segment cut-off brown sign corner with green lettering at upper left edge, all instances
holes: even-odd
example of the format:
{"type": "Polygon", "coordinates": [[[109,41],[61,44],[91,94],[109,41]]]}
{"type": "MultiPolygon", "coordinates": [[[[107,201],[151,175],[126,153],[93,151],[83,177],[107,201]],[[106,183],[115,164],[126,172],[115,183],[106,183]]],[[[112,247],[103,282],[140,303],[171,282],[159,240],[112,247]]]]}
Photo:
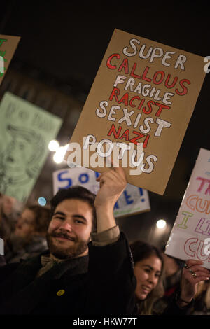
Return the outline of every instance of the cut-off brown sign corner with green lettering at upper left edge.
{"type": "Polygon", "coordinates": [[[19,41],[20,36],[5,36],[0,34],[0,85],[19,41]]]}

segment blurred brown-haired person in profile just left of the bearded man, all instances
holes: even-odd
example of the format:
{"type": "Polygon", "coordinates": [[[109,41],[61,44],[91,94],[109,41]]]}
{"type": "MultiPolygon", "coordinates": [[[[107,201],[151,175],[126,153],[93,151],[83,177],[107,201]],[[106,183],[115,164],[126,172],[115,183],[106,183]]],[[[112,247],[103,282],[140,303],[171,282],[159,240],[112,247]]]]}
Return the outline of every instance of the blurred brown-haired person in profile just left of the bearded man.
{"type": "Polygon", "coordinates": [[[8,239],[6,262],[18,262],[45,251],[48,248],[46,233],[49,223],[50,209],[39,205],[26,207],[8,239]]]}

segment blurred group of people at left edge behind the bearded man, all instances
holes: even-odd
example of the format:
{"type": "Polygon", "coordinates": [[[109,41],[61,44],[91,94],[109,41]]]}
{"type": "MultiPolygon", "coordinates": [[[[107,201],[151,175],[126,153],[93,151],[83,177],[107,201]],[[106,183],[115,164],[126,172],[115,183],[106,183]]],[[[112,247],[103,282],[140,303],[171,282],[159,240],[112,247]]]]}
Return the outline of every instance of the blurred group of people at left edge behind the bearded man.
{"type": "MultiPolygon", "coordinates": [[[[13,197],[1,195],[0,237],[4,241],[6,263],[20,260],[45,251],[46,232],[50,223],[50,209],[38,204],[23,209],[13,197]]],[[[2,258],[1,258],[2,259],[2,258]]]]}

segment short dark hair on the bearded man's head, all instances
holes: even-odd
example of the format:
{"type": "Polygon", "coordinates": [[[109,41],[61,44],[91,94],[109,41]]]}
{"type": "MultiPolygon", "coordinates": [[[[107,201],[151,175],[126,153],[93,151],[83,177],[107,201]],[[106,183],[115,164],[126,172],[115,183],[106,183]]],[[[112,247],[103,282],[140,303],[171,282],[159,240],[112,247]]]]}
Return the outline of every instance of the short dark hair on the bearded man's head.
{"type": "Polygon", "coordinates": [[[92,231],[96,230],[97,219],[94,207],[94,193],[90,192],[90,190],[87,190],[87,188],[83,188],[83,186],[71,186],[71,188],[65,189],[62,188],[56,193],[54,197],[52,197],[52,200],[50,201],[51,217],[53,216],[57,205],[66,199],[78,199],[87,202],[90,205],[90,207],[92,208],[92,231]]]}

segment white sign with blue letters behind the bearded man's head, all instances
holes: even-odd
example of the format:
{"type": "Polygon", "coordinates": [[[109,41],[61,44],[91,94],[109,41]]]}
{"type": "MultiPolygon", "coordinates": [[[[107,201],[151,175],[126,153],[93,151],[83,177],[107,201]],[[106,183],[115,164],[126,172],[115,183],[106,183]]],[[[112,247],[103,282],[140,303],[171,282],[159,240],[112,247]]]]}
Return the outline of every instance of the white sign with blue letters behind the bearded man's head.
{"type": "MultiPolygon", "coordinates": [[[[83,167],[57,170],[53,173],[54,195],[60,188],[69,188],[73,185],[83,186],[92,193],[97,194],[99,182],[97,182],[96,179],[98,176],[98,172],[83,167]]],[[[116,202],[114,216],[118,218],[150,210],[148,191],[127,184],[123,194],[118,199],[118,202],[116,202]]]]}

